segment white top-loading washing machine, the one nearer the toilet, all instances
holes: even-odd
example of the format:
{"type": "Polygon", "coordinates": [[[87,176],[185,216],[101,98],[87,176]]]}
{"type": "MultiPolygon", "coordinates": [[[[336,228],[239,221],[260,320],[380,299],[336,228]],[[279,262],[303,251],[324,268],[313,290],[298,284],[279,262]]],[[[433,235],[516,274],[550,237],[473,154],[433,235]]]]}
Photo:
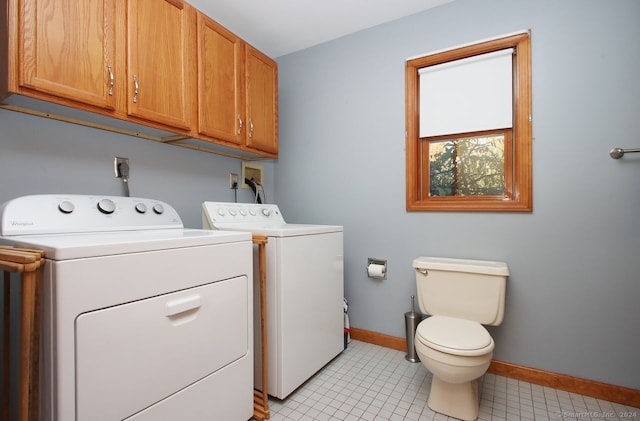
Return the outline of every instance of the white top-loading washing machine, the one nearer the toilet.
{"type": "MultiPolygon", "coordinates": [[[[343,228],[287,224],[273,204],[205,202],[202,219],[207,229],[268,237],[267,391],[284,399],[344,349],[343,228]]],[[[254,258],[254,270],[257,262],[254,258]]],[[[258,316],[256,285],[254,294],[258,316]]],[[[259,318],[254,326],[259,350],[259,318]]],[[[255,375],[261,385],[258,353],[255,375]]]]}

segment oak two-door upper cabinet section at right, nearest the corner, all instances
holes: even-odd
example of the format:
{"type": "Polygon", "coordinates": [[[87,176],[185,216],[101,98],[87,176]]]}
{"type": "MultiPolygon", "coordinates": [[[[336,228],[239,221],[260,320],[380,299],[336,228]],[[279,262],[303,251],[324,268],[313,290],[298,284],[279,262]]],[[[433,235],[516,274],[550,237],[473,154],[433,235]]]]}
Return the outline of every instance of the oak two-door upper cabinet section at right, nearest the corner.
{"type": "Polygon", "coordinates": [[[278,153],[275,61],[198,14],[198,133],[278,153]]]}

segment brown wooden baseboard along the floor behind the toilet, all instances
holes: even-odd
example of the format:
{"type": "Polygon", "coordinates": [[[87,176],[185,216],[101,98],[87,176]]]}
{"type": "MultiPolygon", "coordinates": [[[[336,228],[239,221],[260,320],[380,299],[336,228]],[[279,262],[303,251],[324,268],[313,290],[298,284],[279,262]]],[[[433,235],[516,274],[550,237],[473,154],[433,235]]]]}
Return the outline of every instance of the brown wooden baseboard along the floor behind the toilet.
{"type": "MultiPolygon", "coordinates": [[[[355,327],[352,327],[350,332],[351,337],[358,341],[397,349],[398,351],[407,350],[407,342],[403,338],[355,327]]],[[[496,360],[491,361],[488,373],[640,408],[640,390],[637,389],[496,360]]]]}

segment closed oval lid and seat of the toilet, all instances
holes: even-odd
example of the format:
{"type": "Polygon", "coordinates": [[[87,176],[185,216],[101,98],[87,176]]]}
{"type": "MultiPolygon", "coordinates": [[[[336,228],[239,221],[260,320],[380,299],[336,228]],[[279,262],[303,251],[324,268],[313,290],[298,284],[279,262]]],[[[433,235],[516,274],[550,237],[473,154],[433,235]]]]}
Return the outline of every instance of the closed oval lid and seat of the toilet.
{"type": "Polygon", "coordinates": [[[440,315],[420,322],[416,339],[429,348],[460,356],[484,355],[495,346],[493,338],[480,323],[440,315]]]}

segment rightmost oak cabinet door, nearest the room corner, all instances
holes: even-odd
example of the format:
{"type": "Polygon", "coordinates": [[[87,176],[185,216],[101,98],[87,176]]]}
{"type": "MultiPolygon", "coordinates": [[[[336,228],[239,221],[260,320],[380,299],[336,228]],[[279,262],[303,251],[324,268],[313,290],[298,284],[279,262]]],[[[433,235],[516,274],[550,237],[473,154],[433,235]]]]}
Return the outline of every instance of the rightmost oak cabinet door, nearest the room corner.
{"type": "Polygon", "coordinates": [[[278,153],[278,67],[260,51],[246,46],[248,147],[278,153]]]}

